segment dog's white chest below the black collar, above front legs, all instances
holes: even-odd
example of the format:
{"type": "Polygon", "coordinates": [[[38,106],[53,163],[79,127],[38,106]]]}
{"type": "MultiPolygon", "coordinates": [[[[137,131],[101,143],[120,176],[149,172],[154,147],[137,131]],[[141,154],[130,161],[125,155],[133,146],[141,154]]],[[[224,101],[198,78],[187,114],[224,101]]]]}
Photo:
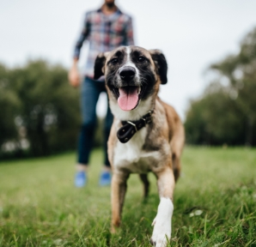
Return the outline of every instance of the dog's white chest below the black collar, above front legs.
{"type": "Polygon", "coordinates": [[[149,172],[154,161],[159,156],[158,152],[146,152],[143,145],[146,139],[147,130],[143,128],[134,135],[129,142],[118,142],[114,148],[113,166],[125,168],[130,172],[149,172]],[[153,162],[152,162],[153,161],[153,162]]]}

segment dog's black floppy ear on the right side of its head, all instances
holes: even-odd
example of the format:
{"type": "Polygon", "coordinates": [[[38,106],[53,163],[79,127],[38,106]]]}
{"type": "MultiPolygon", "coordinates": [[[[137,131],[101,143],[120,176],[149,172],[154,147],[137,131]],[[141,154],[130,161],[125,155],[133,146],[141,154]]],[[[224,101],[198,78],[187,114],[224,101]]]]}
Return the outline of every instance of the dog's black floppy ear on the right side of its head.
{"type": "Polygon", "coordinates": [[[162,54],[162,51],[149,50],[149,53],[155,63],[156,69],[158,70],[161,84],[166,84],[168,82],[168,63],[162,54]]]}

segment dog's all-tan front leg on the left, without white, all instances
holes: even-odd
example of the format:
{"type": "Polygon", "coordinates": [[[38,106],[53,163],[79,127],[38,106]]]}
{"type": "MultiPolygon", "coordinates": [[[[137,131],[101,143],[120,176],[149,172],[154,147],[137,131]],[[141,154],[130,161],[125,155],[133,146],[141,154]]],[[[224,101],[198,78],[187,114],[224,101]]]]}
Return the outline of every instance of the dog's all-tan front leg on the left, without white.
{"type": "Polygon", "coordinates": [[[121,222],[121,213],[125,201],[125,192],[127,189],[127,178],[129,174],[113,173],[111,183],[111,201],[112,201],[112,232],[115,232],[115,227],[118,227],[121,222]]]}

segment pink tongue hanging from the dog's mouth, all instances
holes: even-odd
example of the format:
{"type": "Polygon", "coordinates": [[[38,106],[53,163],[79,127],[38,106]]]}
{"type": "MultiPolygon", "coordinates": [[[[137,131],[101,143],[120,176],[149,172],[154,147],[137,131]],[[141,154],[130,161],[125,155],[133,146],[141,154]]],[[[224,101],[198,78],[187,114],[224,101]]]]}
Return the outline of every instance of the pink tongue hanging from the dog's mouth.
{"type": "Polygon", "coordinates": [[[138,94],[137,87],[129,87],[128,91],[119,88],[119,107],[124,111],[131,111],[137,105],[138,94]]]}

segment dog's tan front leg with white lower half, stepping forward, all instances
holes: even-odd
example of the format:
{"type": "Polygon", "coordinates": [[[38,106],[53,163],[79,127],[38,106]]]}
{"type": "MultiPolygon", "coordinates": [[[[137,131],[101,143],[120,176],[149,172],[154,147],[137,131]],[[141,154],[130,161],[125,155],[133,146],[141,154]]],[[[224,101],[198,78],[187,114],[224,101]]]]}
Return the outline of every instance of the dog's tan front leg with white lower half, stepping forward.
{"type": "Polygon", "coordinates": [[[157,185],[160,196],[160,203],[157,208],[153,234],[150,239],[151,244],[156,247],[166,246],[167,238],[171,238],[172,232],[172,216],[174,212],[174,203],[172,202],[174,196],[174,172],[171,168],[166,168],[165,171],[156,173],[158,178],[157,185]]]}

